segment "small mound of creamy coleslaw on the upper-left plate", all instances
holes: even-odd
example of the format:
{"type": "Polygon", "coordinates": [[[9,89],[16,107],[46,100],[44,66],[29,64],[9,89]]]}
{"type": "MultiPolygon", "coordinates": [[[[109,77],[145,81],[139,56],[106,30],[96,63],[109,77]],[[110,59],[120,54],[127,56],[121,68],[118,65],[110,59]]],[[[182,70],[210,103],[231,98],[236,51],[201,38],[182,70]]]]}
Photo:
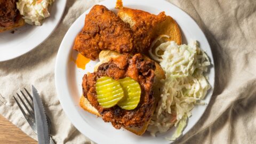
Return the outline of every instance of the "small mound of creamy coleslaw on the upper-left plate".
{"type": "Polygon", "coordinates": [[[19,0],[17,9],[29,25],[41,26],[42,20],[49,17],[48,6],[54,0],[19,0]]]}

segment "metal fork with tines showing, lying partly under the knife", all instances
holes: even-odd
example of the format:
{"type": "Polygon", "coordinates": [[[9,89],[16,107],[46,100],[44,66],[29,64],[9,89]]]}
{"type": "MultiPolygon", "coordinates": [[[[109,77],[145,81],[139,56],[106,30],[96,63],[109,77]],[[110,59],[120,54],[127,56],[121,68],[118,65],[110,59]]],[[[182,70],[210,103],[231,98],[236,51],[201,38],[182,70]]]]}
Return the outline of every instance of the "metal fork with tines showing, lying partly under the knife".
{"type": "MultiPolygon", "coordinates": [[[[34,111],[34,105],[33,105],[33,97],[31,96],[31,94],[27,91],[26,88],[24,88],[29,99],[26,97],[25,93],[23,93],[22,91],[21,94],[23,95],[23,98],[25,98],[25,100],[27,101],[27,104],[21,99],[20,95],[17,93],[18,98],[20,99],[23,107],[25,107],[25,109],[27,110],[28,113],[25,112],[25,109],[22,108],[21,103],[17,100],[17,98],[14,97],[13,98],[15,100],[15,102],[17,103],[17,105],[19,106],[23,116],[25,117],[25,119],[27,120],[28,124],[30,125],[31,129],[37,134],[37,130],[36,130],[36,118],[35,118],[35,111],[34,111]]],[[[49,117],[46,115],[46,119],[47,119],[47,124],[48,124],[48,131],[49,133],[51,132],[51,121],[49,119],[49,117]]],[[[54,144],[54,141],[52,139],[52,137],[50,137],[50,144],[54,144]]]]}

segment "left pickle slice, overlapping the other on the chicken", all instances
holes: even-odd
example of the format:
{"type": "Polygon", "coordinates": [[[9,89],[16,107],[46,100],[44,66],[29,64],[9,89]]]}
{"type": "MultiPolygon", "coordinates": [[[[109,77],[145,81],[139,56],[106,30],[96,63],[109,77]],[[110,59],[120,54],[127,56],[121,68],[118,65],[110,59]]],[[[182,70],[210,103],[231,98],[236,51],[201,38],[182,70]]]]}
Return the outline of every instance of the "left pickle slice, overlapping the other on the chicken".
{"type": "Polygon", "coordinates": [[[100,77],[96,82],[96,92],[99,105],[110,108],[124,97],[120,83],[111,77],[100,77]]]}

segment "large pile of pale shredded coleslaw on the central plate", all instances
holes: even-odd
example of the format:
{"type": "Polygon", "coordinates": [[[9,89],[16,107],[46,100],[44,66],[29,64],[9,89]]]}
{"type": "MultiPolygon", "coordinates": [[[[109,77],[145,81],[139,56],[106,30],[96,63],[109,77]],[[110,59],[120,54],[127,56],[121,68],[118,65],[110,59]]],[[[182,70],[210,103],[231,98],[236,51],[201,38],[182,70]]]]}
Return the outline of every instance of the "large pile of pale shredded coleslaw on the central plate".
{"type": "Polygon", "coordinates": [[[151,118],[148,131],[155,136],[157,132],[163,133],[173,125],[178,125],[172,138],[166,138],[175,140],[182,134],[194,105],[202,104],[200,100],[204,99],[210,89],[204,76],[210,61],[196,41],[191,41],[189,45],[165,42],[157,46],[155,53],[158,50],[164,51],[163,55],[160,55],[160,65],[166,78],[161,80],[161,99],[151,118]]]}

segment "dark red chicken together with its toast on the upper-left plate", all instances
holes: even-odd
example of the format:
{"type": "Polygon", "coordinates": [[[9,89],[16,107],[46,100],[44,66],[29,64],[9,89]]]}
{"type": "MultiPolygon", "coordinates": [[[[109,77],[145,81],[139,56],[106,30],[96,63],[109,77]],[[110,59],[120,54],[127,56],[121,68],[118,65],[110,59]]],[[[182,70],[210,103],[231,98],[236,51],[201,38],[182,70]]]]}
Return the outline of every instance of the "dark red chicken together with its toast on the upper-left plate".
{"type": "Polygon", "coordinates": [[[15,0],[0,0],[0,33],[25,25],[15,2],[15,0]]]}

